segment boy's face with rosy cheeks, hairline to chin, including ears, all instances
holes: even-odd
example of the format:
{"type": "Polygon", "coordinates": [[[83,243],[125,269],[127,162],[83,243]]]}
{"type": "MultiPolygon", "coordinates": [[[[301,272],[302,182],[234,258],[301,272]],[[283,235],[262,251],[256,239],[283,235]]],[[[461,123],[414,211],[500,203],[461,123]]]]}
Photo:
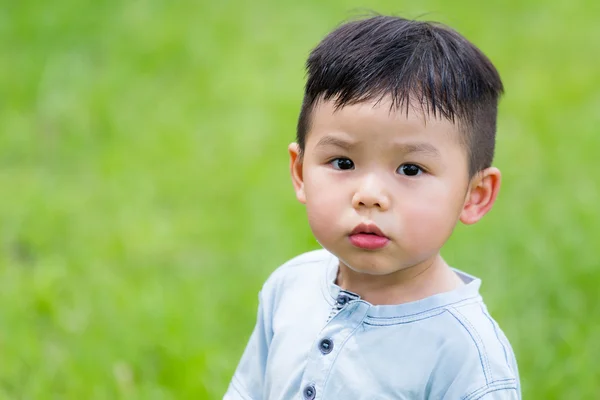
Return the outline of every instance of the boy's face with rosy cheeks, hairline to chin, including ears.
{"type": "Polygon", "coordinates": [[[352,270],[374,275],[436,257],[465,210],[486,196],[481,182],[469,179],[463,133],[453,123],[410,107],[408,115],[390,112],[389,101],[339,110],[321,101],[304,157],[296,144],[289,148],[296,194],[316,239],[352,270]]]}

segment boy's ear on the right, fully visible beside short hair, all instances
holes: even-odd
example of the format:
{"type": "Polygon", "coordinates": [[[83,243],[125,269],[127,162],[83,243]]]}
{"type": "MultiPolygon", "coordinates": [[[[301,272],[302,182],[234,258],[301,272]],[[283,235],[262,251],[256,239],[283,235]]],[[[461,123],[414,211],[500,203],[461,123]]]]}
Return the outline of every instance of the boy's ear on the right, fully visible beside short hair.
{"type": "Polygon", "coordinates": [[[500,191],[501,178],[500,170],[494,167],[486,168],[473,177],[460,213],[463,224],[474,224],[492,209],[500,191]]]}

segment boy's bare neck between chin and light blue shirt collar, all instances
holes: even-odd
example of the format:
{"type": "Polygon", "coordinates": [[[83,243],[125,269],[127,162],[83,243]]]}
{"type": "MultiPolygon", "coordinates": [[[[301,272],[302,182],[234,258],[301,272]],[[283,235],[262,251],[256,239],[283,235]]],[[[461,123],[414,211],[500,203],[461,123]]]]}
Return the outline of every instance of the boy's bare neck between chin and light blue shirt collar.
{"type": "Polygon", "coordinates": [[[437,254],[420,264],[388,275],[356,272],[340,262],[337,284],[373,305],[389,305],[449,292],[463,282],[437,254]]]}

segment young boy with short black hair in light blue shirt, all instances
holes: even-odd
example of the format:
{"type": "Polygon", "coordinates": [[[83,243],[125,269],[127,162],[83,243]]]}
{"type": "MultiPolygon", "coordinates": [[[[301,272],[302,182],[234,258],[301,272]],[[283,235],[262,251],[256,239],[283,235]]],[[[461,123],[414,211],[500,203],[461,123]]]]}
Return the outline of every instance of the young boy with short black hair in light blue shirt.
{"type": "Polygon", "coordinates": [[[323,250],[275,271],[225,399],[519,399],[481,281],[440,249],[492,207],[502,82],[440,24],[376,16],[310,54],[292,182],[323,250]]]}

